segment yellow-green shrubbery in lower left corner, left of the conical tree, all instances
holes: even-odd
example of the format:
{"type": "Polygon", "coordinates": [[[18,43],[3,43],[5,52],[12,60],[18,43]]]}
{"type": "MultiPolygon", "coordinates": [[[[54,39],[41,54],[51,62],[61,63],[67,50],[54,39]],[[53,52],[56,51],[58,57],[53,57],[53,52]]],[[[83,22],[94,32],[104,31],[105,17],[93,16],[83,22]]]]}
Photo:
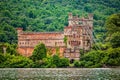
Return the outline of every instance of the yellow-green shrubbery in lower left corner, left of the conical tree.
{"type": "Polygon", "coordinates": [[[24,68],[32,67],[33,61],[17,53],[17,47],[14,44],[0,44],[0,67],[1,68],[24,68]],[[6,47],[4,52],[3,47],[6,47]]]}

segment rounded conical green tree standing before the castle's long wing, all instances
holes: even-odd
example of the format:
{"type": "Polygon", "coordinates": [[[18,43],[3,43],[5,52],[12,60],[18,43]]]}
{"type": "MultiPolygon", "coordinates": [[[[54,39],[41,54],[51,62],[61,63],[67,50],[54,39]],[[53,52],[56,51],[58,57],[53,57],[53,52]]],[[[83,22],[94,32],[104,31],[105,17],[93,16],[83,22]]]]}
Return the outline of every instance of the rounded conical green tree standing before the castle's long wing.
{"type": "Polygon", "coordinates": [[[39,43],[32,53],[32,56],[30,57],[32,60],[42,60],[47,56],[47,49],[43,43],[39,43]]]}

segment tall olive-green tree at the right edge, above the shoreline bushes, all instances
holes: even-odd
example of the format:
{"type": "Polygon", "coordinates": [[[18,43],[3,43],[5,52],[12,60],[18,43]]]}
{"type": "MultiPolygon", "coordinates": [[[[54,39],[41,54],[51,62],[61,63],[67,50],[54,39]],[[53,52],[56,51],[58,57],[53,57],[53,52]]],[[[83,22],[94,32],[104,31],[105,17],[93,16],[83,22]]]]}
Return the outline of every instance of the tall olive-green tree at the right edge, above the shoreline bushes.
{"type": "Polygon", "coordinates": [[[120,13],[111,15],[105,27],[108,32],[106,40],[110,41],[113,48],[120,47],[120,13]]]}

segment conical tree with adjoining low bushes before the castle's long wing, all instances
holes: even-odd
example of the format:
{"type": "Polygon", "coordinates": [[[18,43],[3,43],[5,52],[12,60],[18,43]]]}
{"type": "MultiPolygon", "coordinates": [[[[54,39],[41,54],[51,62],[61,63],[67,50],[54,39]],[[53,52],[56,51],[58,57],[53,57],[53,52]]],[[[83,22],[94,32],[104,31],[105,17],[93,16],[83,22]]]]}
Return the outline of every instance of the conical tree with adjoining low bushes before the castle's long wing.
{"type": "Polygon", "coordinates": [[[66,58],[60,58],[57,51],[54,56],[47,56],[46,53],[46,47],[43,43],[40,43],[35,47],[33,55],[30,57],[34,61],[33,67],[55,68],[69,66],[69,60],[66,58]]]}

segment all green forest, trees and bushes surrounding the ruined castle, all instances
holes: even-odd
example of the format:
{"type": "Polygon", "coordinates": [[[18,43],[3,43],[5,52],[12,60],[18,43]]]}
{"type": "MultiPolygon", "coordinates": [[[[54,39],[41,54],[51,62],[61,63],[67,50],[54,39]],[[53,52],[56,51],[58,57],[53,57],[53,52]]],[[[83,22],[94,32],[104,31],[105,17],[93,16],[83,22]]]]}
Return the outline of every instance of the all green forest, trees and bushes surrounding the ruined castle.
{"type": "MultiPolygon", "coordinates": [[[[94,14],[94,34],[97,43],[74,67],[120,66],[120,1],[119,0],[2,0],[0,1],[0,67],[68,67],[66,58],[52,54],[44,44],[36,46],[30,58],[17,50],[15,28],[26,31],[63,31],[68,13],[80,17],[94,14]],[[113,15],[111,15],[113,14],[113,15]],[[110,16],[111,15],[111,16],[110,16]],[[110,16],[110,17],[108,17],[110,16]],[[107,18],[108,17],[108,18],[107,18]],[[105,22],[106,21],[106,22],[105,22]],[[99,45],[101,50],[95,50],[99,45]],[[3,50],[6,48],[6,51],[3,50]],[[49,55],[47,55],[49,54],[49,55]]],[[[67,38],[64,38],[66,43],[67,38]]],[[[67,43],[66,43],[67,44],[67,43]]],[[[58,51],[58,48],[56,48],[58,51]]]]}

